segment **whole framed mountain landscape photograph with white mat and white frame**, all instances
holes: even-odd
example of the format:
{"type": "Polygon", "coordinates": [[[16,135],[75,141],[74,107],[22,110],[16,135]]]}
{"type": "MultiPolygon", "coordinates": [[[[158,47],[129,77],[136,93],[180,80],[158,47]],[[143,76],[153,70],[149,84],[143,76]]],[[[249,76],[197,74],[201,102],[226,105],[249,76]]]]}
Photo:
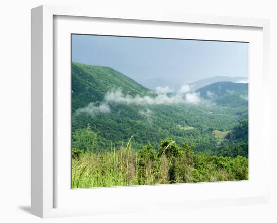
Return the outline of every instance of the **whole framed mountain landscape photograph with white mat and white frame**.
{"type": "Polygon", "coordinates": [[[31,11],[31,212],[269,202],[269,21],[31,11]]]}

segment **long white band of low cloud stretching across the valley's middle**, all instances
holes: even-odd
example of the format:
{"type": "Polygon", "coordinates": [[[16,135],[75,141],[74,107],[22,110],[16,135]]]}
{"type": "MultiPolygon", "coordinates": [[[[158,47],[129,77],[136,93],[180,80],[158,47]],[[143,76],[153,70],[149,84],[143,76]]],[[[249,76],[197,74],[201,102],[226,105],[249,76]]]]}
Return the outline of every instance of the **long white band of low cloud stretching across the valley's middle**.
{"type": "Polygon", "coordinates": [[[176,94],[172,97],[167,96],[166,94],[158,94],[157,97],[150,96],[140,96],[136,95],[135,97],[126,95],[124,96],[120,89],[116,91],[109,91],[104,100],[106,102],[116,102],[122,104],[137,104],[137,105],[160,105],[160,104],[178,104],[185,103],[182,95],[176,94]]]}

